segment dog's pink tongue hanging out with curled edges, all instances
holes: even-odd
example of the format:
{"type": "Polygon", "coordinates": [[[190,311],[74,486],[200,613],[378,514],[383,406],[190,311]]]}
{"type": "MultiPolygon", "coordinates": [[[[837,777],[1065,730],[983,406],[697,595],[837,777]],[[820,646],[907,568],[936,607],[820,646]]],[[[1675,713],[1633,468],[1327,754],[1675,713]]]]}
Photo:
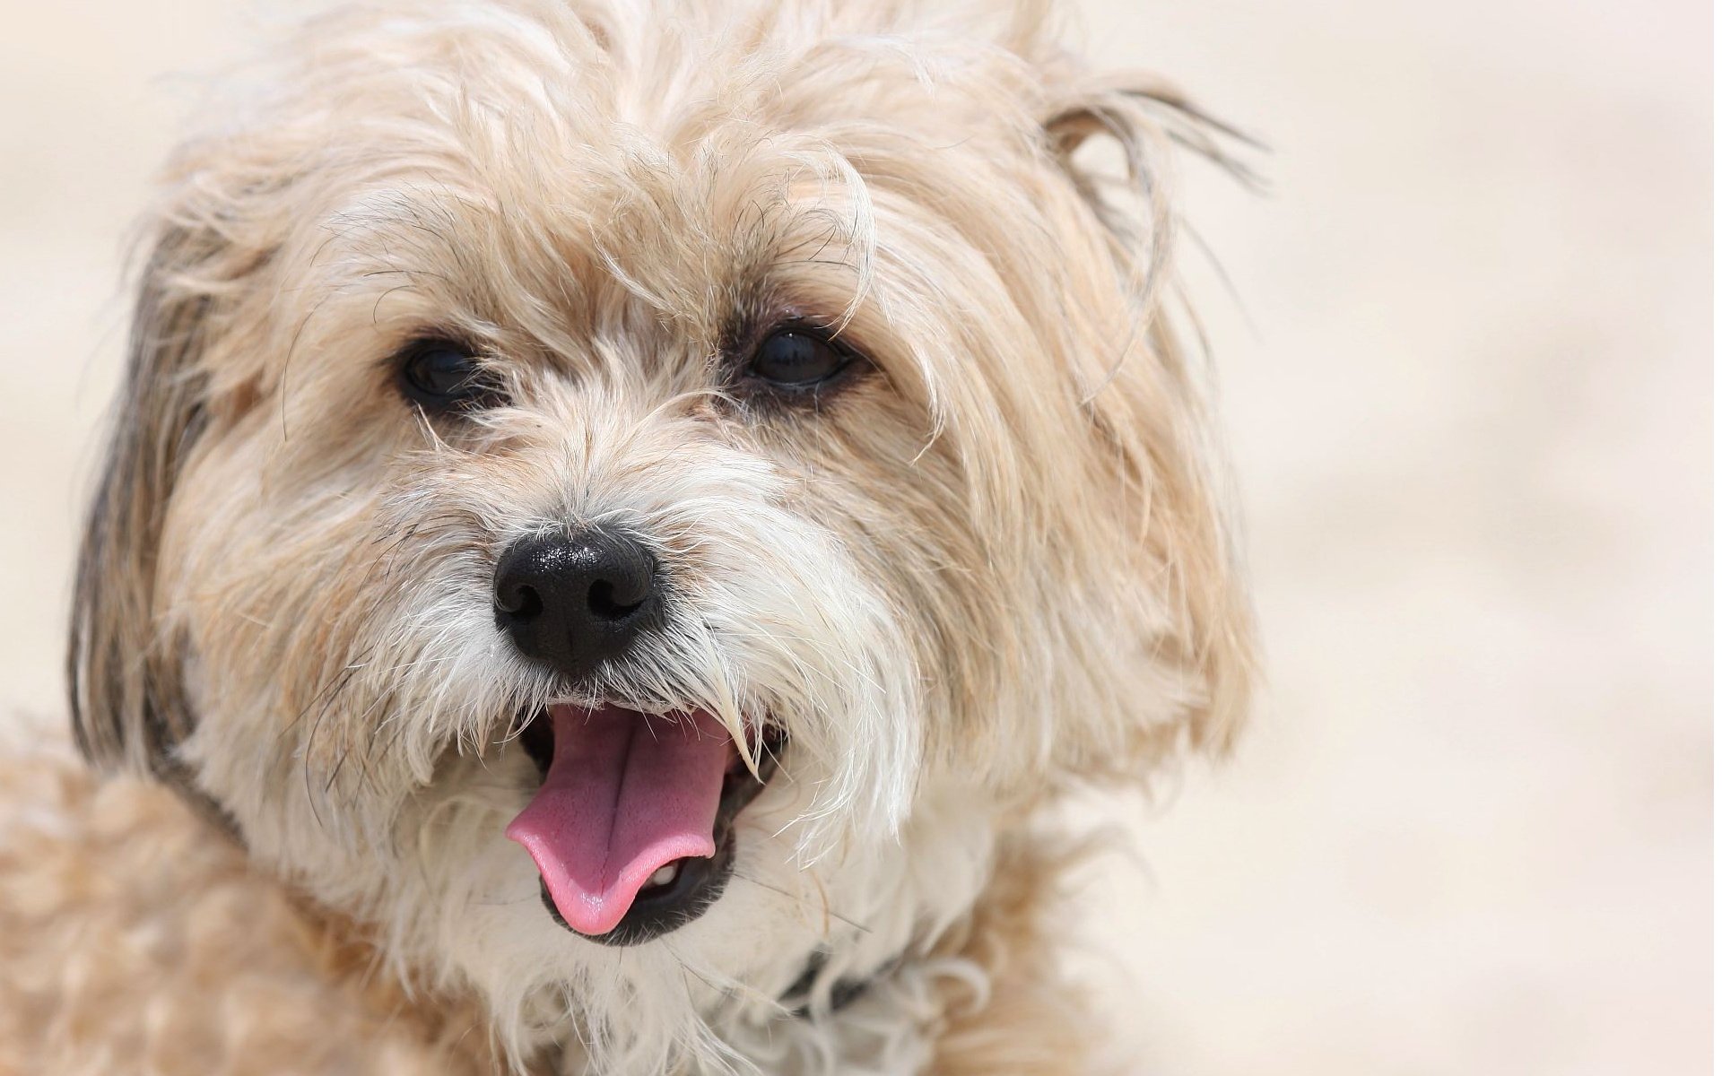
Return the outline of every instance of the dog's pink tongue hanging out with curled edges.
{"type": "Polygon", "coordinates": [[[553,706],[549,716],[549,773],[506,833],[532,854],[568,926],[601,935],[629,914],[653,871],[716,852],[730,733],[704,711],[654,718],[553,706]]]}

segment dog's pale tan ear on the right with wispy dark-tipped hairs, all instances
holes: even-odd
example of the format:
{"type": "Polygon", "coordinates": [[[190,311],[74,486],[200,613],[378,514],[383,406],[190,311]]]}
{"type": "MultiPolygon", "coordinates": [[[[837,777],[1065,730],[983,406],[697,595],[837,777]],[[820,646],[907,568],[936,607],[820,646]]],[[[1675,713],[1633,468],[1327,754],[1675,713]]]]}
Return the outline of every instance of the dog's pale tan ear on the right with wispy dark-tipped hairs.
{"type": "MultiPolygon", "coordinates": [[[[1066,86],[1045,112],[1047,148],[1099,220],[1135,308],[1123,358],[1102,358],[1078,377],[1100,451],[1123,468],[1140,504],[1152,577],[1143,585],[1171,618],[1149,646],[1192,696],[1183,721],[1138,728],[1128,747],[1106,744],[1104,752],[1123,747],[1131,768],[1162,758],[1173,739],[1226,751],[1248,708],[1254,616],[1235,547],[1230,468],[1211,436],[1205,355],[1192,353],[1168,313],[1181,303],[1169,282],[1176,217],[1168,176],[1173,150],[1185,148],[1255,186],[1236,148],[1257,145],[1150,77],[1066,86]],[[1121,150],[1123,176],[1078,153],[1100,148],[1093,139],[1102,138],[1121,150]]],[[[1190,336],[1200,339],[1199,331],[1190,336]]]]}

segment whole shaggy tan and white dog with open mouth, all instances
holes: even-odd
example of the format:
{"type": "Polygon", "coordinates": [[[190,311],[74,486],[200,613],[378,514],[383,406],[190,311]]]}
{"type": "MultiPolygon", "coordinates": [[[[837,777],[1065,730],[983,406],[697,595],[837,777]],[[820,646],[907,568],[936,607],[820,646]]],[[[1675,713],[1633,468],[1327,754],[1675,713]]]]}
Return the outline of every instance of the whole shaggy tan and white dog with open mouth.
{"type": "Polygon", "coordinates": [[[1057,807],[1224,745],[1250,627],[1166,313],[1226,133],[1045,22],[363,7],[181,148],[0,1069],[1092,1071],[1057,807]]]}

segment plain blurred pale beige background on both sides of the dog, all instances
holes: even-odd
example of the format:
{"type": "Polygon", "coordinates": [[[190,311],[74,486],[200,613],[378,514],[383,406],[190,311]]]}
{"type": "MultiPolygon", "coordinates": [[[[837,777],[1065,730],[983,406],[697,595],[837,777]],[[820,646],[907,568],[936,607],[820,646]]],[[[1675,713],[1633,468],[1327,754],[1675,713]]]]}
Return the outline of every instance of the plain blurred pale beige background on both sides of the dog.
{"type": "MultiPolygon", "coordinates": [[[[121,236],[274,14],[0,34],[0,699],[59,706],[121,236]]],[[[1188,172],[1271,689],[1090,919],[1159,1073],[1700,1073],[1710,1038],[1710,12],[1135,0],[1092,52],[1273,143],[1188,172]]]]}

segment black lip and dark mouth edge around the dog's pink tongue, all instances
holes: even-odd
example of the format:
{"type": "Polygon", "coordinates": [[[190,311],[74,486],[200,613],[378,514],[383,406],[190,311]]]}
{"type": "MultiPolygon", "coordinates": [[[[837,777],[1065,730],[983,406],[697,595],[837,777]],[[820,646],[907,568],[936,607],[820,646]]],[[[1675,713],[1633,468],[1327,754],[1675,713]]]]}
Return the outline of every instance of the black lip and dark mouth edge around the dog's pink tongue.
{"type": "MultiPolygon", "coordinates": [[[[603,935],[575,931],[556,909],[549,887],[541,878],[539,895],[551,918],[570,933],[579,933],[601,945],[639,945],[703,916],[723,895],[734,869],[735,819],[770,783],[777,773],[778,758],[789,744],[787,732],[773,721],[763,725],[759,737],[759,776],[753,775],[739,751],[734,752],[735,758],[723,775],[711,833],[716,852],[711,857],[682,857],[658,868],[639,890],[622,921],[603,935]]],[[[537,766],[542,782],[556,751],[549,708],[537,711],[523,725],[520,744],[537,766]]]]}

